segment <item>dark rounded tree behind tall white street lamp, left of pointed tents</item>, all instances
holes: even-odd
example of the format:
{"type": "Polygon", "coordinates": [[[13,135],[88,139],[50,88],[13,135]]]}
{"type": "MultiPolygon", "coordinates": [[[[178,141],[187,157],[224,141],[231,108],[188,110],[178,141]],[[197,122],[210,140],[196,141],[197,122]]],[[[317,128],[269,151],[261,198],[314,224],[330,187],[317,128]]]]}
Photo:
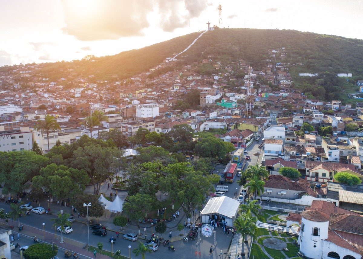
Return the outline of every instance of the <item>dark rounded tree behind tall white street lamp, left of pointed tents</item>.
{"type": "Polygon", "coordinates": [[[74,207],[77,208],[79,213],[87,215],[87,207],[83,207],[83,203],[90,203],[91,206],[88,207],[89,217],[102,217],[105,213],[105,204],[98,200],[99,196],[93,194],[83,194],[78,197],[73,198],[72,202],[74,207]]]}

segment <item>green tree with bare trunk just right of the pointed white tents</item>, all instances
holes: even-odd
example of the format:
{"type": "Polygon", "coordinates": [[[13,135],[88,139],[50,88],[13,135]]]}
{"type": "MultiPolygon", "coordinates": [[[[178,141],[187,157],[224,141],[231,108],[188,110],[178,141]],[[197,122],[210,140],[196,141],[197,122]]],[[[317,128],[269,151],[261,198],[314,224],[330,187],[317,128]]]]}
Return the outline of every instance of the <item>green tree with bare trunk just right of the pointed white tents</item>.
{"type": "Polygon", "coordinates": [[[141,235],[139,219],[144,219],[145,213],[156,210],[159,202],[155,196],[139,193],[127,197],[127,200],[127,202],[123,203],[123,213],[136,222],[136,226],[139,228],[139,235],[141,235]]]}

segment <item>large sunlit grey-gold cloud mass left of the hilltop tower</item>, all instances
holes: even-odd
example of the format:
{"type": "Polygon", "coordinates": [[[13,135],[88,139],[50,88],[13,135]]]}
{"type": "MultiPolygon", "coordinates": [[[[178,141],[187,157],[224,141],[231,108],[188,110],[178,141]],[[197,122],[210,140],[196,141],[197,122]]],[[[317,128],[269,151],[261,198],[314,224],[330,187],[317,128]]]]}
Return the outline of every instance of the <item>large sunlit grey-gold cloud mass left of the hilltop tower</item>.
{"type": "Polygon", "coordinates": [[[147,17],[159,12],[166,32],[185,27],[207,8],[205,0],[61,0],[66,26],[62,31],[81,41],[116,40],[142,36],[147,17]],[[155,10],[154,10],[155,9],[155,10]]]}

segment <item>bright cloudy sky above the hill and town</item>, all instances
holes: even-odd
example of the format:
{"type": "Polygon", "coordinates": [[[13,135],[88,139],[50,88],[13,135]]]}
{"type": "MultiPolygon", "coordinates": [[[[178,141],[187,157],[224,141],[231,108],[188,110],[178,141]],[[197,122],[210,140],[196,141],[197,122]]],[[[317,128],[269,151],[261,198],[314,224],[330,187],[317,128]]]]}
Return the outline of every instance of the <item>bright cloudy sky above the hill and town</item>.
{"type": "Polygon", "coordinates": [[[0,66],[115,55],[208,21],[363,39],[362,13],[363,0],[0,0],[0,66]]]}

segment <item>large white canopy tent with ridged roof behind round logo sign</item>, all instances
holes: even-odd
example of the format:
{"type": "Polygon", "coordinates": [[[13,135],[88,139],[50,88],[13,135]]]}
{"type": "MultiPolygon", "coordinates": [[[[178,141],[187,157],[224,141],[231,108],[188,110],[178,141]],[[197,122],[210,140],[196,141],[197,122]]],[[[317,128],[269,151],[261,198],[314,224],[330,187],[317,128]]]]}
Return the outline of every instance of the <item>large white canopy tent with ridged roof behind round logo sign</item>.
{"type": "Polygon", "coordinates": [[[211,198],[201,211],[202,223],[208,223],[211,215],[219,215],[225,218],[227,226],[233,226],[233,220],[238,213],[238,206],[240,206],[239,201],[227,196],[211,198]]]}

